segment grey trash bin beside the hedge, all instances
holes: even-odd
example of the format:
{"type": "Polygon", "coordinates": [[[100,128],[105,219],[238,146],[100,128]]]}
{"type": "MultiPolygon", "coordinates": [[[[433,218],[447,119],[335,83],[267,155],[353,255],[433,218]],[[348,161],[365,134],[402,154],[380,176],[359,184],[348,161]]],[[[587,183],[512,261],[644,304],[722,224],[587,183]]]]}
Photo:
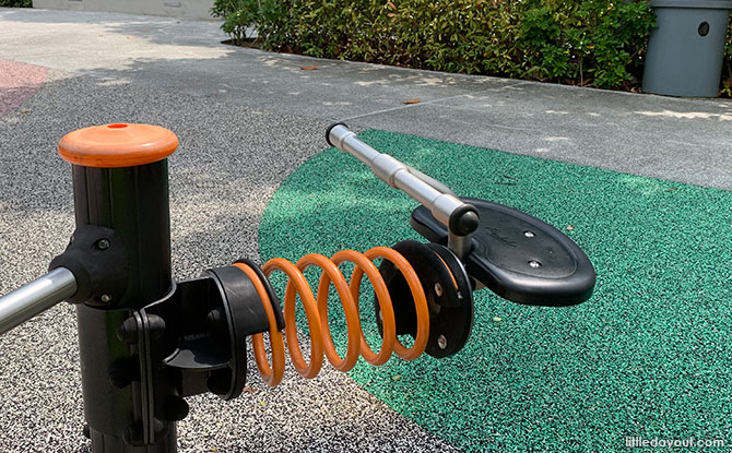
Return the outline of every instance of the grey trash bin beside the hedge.
{"type": "Polygon", "coordinates": [[[645,93],[717,97],[732,0],[651,0],[645,93]]]}

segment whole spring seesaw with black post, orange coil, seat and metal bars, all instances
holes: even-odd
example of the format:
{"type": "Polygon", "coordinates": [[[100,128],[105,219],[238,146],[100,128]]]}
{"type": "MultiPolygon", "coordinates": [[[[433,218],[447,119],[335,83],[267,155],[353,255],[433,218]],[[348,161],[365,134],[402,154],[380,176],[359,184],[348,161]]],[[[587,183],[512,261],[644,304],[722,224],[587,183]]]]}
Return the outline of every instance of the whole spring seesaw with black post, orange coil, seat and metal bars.
{"type": "Polygon", "coordinates": [[[309,254],[293,264],[273,259],[259,266],[240,260],[175,282],[170,272],[167,156],[178,145],[166,129],[106,124],[66,135],[59,153],[72,164],[76,229],[50,272],[0,298],[0,334],[61,300],[76,305],[86,434],[94,452],[176,451],[176,421],[188,414],[186,396],[212,392],[238,396],[252,337],[264,380],[276,385],[284,341],[295,368],[315,377],[323,355],[347,371],[359,355],[374,365],[392,351],[414,359],[457,353],[473,323],[472,291],[487,287],[534,306],[587,300],[594,270],[586,254],[554,227],[507,206],[459,199],[447,187],[380,154],[344,124],[327,140],[353,154],[392,188],[422,205],[411,225],[429,242],[403,241],[365,253],[344,250],[330,259],[309,254]],[[382,259],[377,269],[373,263],[382,259]],[[350,283],[338,270],[355,263],[350,283]],[[303,271],[323,270],[317,294],[303,271]],[[287,274],[284,306],[268,276],[287,274]],[[382,344],[371,351],[358,321],[364,277],[374,286],[382,344]],[[328,329],[328,291],[335,286],[349,327],[340,357],[328,329]],[[310,331],[310,362],[297,343],[299,294],[310,331]],[[269,333],[271,365],[262,333],[269,333]],[[404,347],[397,335],[415,338],[404,347]]]}

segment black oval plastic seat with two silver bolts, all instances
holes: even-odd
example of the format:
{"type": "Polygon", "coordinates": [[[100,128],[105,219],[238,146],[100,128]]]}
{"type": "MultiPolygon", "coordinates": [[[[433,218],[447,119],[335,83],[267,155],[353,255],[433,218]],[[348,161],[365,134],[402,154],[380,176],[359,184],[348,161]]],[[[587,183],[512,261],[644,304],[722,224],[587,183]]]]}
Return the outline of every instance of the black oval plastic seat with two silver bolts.
{"type": "MultiPolygon", "coordinates": [[[[486,200],[461,200],[480,213],[480,226],[465,259],[471,277],[518,303],[560,307],[590,298],[594,267],[562,231],[512,207],[486,200]]],[[[426,239],[447,245],[447,228],[426,207],[414,210],[411,225],[426,239]]]]}

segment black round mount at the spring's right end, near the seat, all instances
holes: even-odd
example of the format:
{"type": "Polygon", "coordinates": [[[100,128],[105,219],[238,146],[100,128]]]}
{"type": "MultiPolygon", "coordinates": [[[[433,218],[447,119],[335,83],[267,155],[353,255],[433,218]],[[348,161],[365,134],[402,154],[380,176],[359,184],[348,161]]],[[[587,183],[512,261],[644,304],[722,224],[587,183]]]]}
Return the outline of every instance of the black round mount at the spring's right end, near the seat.
{"type": "MultiPolygon", "coordinates": [[[[429,338],[425,353],[448,357],[468,342],[473,326],[473,293],[470,278],[458,258],[446,247],[405,240],[393,249],[410,262],[420,277],[429,308],[429,338]]],[[[394,308],[397,335],[416,337],[414,297],[402,273],[388,260],[379,272],[387,284],[394,308]]],[[[383,334],[378,300],[374,300],[379,333],[383,334]]]]}

